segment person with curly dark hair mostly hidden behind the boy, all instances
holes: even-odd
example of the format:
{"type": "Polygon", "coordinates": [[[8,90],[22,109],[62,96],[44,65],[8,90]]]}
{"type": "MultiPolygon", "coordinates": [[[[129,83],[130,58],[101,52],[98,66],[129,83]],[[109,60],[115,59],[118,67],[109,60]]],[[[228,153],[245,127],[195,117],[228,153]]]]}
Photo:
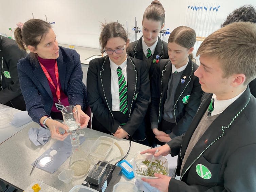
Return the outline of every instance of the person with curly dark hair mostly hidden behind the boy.
{"type": "MultiPolygon", "coordinates": [[[[224,27],[233,22],[253,22],[256,23],[256,10],[255,7],[252,5],[244,5],[240,8],[235,9],[231,14],[229,14],[226,18],[226,21],[221,25],[224,27]]],[[[249,88],[251,94],[256,98],[256,79],[253,79],[249,83],[249,88]]]]}

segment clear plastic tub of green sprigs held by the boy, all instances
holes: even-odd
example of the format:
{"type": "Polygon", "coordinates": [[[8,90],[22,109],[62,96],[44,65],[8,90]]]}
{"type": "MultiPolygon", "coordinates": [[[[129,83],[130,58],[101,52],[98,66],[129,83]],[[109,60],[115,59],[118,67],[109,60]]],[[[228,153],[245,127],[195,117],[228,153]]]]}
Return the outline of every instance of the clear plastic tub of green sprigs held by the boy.
{"type": "MultiPolygon", "coordinates": [[[[157,179],[157,177],[144,176],[144,175],[140,175],[136,172],[136,170],[138,170],[138,168],[139,168],[139,170],[142,169],[143,171],[146,171],[147,166],[145,164],[143,164],[142,161],[144,161],[146,159],[151,160],[153,156],[154,155],[151,155],[151,154],[136,154],[134,156],[133,173],[134,173],[135,178],[137,178],[137,179],[141,179],[141,178],[157,179]],[[138,166],[138,168],[137,168],[137,166],[138,166]]],[[[162,160],[162,162],[166,161],[164,164],[164,167],[166,168],[166,175],[168,176],[169,175],[169,165],[168,165],[168,160],[166,159],[166,157],[158,156],[158,157],[155,157],[154,160],[162,160]]]]}

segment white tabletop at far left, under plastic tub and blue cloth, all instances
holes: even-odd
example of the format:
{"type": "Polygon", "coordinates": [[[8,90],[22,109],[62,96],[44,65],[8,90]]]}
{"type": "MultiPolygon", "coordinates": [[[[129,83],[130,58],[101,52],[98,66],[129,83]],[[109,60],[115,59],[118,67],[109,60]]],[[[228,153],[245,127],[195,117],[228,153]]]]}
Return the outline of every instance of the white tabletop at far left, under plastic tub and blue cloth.
{"type": "MultiPolygon", "coordinates": [[[[13,114],[21,112],[18,109],[14,109],[0,103],[0,109],[4,109],[4,108],[10,108],[13,114]]],[[[20,130],[24,129],[26,126],[28,126],[28,124],[24,124],[21,127],[14,127],[11,124],[8,124],[5,129],[0,129],[0,144],[5,140],[7,140],[8,138],[15,135],[16,133],[18,133],[20,130]]]]}

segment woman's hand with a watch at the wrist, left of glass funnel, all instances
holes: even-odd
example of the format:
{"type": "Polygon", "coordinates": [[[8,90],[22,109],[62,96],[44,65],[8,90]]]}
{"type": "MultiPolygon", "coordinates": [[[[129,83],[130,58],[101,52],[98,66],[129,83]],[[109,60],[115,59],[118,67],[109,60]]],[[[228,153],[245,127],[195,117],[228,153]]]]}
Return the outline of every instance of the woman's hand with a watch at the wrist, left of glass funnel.
{"type": "Polygon", "coordinates": [[[63,141],[64,139],[66,139],[68,135],[70,135],[70,133],[67,133],[66,131],[64,134],[60,134],[59,128],[62,128],[64,130],[68,130],[69,128],[68,126],[66,126],[65,124],[59,121],[56,121],[53,119],[47,119],[45,124],[49,127],[49,130],[51,131],[51,137],[53,139],[63,141]]]}

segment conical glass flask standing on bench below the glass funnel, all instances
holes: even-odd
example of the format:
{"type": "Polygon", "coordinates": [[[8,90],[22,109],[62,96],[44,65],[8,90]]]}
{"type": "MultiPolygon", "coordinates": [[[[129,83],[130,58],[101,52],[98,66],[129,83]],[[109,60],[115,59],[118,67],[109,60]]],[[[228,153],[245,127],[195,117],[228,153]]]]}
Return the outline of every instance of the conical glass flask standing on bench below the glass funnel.
{"type": "MultiPolygon", "coordinates": [[[[80,131],[81,132],[81,131],[80,131]]],[[[79,136],[84,136],[83,133],[79,135],[77,133],[72,133],[70,135],[72,153],[69,160],[69,169],[74,170],[75,176],[85,175],[90,170],[91,161],[88,158],[88,155],[82,150],[80,146],[79,136]]]]}

